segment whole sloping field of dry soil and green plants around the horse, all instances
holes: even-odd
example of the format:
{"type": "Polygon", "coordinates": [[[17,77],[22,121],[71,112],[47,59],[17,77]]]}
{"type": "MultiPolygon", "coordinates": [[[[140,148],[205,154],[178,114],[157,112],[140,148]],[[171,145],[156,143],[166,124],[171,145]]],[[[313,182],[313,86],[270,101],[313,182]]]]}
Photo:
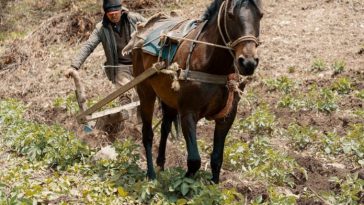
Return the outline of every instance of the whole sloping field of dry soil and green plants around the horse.
{"type": "MultiPolygon", "coordinates": [[[[228,134],[219,185],[209,181],[211,121],[198,123],[196,176],[183,177],[185,142],[174,137],[155,181],[145,178],[139,128],[115,139],[77,124],[63,73],[102,18],[101,1],[0,2],[0,204],[364,204],[362,0],[263,0],[260,65],[228,134]],[[117,155],[97,160],[108,145],[117,155]]],[[[125,4],[145,16],[198,18],[209,2],[125,4]]],[[[100,46],[80,71],[89,104],[113,90],[103,62],[100,46]]],[[[157,129],[154,154],[158,142],[157,129]]]]}

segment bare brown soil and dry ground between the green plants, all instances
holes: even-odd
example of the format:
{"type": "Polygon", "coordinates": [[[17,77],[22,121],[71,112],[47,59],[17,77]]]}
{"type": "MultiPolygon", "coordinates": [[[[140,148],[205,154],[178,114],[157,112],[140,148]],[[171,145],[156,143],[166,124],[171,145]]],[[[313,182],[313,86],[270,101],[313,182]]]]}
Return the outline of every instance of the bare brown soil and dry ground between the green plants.
{"type": "MultiPolygon", "coordinates": [[[[198,18],[208,2],[199,0],[193,5],[182,4],[176,7],[175,13],[183,17],[198,18]]],[[[153,1],[135,1],[129,6],[132,9],[145,9],[155,5],[153,1]]],[[[347,77],[356,89],[364,89],[364,1],[266,0],[264,10],[261,24],[263,44],[259,47],[260,65],[246,90],[253,90],[257,96],[264,96],[264,102],[271,105],[277,123],[282,128],[297,122],[323,131],[336,130],[340,134],[345,133],[350,124],[364,123],[364,119],[350,114],[350,110],[363,108],[364,102],[358,98],[342,98],[339,110],[332,114],[316,111],[293,112],[275,107],[279,96],[276,92],[270,92],[263,83],[266,79],[288,76],[305,89],[313,83],[319,87],[329,86],[334,79],[347,77]],[[326,62],[325,71],[312,71],[313,60],[317,58],[326,62]],[[336,60],[345,61],[346,67],[343,73],[333,75],[330,69],[336,60]],[[294,72],[288,72],[292,68],[294,72]]],[[[63,72],[70,67],[72,57],[80,48],[80,42],[87,39],[100,19],[100,13],[92,16],[79,12],[60,13],[43,21],[39,28],[23,39],[1,42],[0,100],[16,98],[25,102],[29,108],[26,114],[29,120],[61,124],[79,133],[80,138],[91,146],[103,146],[114,140],[115,137],[106,136],[102,132],[81,134],[82,128],[73,116],[66,109],[53,106],[57,98],[65,99],[74,92],[73,82],[66,79],[63,72]]],[[[105,96],[105,93],[113,90],[112,84],[100,68],[103,61],[103,51],[99,46],[80,70],[82,83],[90,99],[105,96]]],[[[239,107],[238,118],[249,115],[251,108],[252,106],[239,107]]],[[[206,150],[211,149],[213,126],[208,121],[201,121],[199,124],[199,138],[209,142],[206,150]]],[[[141,143],[140,128],[126,127],[123,134],[116,138],[133,136],[141,143]]],[[[238,136],[236,130],[232,130],[231,135],[243,140],[253,137],[238,136]]],[[[156,136],[154,153],[158,149],[158,142],[159,137],[156,136]]],[[[167,146],[165,167],[186,167],[183,139],[169,140],[167,146]]],[[[307,179],[304,176],[295,176],[298,185],[290,189],[295,195],[302,194],[305,188],[313,190],[312,192],[339,191],[340,187],[329,179],[333,176],[342,178],[354,168],[350,164],[344,164],[345,169],[330,167],[327,166],[328,162],[305,154],[307,153],[292,153],[299,165],[308,171],[307,179]]],[[[202,168],[209,169],[208,154],[202,155],[202,168]]],[[[363,171],[360,176],[363,176],[363,171]]],[[[223,186],[236,187],[241,193],[247,194],[248,199],[259,195],[263,195],[263,198],[268,196],[264,185],[240,179],[236,173],[223,170],[221,179],[223,186]]],[[[317,198],[300,198],[298,203],[324,204],[317,198]]]]}

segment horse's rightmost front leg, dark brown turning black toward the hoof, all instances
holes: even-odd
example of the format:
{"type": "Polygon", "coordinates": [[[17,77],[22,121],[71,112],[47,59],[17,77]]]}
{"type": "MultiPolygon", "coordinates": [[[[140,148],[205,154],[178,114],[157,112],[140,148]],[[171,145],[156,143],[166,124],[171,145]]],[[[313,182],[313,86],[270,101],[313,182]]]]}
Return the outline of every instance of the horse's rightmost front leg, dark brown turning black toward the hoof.
{"type": "Polygon", "coordinates": [[[214,131],[214,145],[211,153],[211,171],[212,171],[212,181],[214,183],[219,183],[221,166],[224,158],[224,146],[226,135],[228,134],[237,111],[237,102],[233,106],[233,110],[230,112],[229,116],[223,119],[215,120],[215,131],[214,131]]]}

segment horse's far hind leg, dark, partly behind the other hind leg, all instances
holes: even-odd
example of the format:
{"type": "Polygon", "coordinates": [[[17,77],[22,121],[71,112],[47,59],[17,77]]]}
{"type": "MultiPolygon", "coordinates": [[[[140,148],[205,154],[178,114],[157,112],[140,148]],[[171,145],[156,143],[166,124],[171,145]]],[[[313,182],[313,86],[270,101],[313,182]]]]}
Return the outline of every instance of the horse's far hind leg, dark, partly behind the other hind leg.
{"type": "Polygon", "coordinates": [[[177,120],[177,111],[162,102],[162,126],[161,140],[159,142],[159,152],[157,157],[157,165],[161,170],[164,170],[166,161],[166,144],[169,133],[171,132],[172,122],[177,120]]]}

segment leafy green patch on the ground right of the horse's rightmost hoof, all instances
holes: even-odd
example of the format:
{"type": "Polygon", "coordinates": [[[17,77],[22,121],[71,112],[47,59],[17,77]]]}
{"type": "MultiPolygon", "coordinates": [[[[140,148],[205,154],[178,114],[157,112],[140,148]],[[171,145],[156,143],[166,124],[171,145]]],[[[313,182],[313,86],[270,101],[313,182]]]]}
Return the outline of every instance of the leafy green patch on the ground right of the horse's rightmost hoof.
{"type": "Polygon", "coordinates": [[[265,138],[254,139],[250,143],[228,142],[224,159],[226,168],[279,186],[293,186],[292,173],[297,170],[305,174],[294,159],[272,148],[265,138]]]}

